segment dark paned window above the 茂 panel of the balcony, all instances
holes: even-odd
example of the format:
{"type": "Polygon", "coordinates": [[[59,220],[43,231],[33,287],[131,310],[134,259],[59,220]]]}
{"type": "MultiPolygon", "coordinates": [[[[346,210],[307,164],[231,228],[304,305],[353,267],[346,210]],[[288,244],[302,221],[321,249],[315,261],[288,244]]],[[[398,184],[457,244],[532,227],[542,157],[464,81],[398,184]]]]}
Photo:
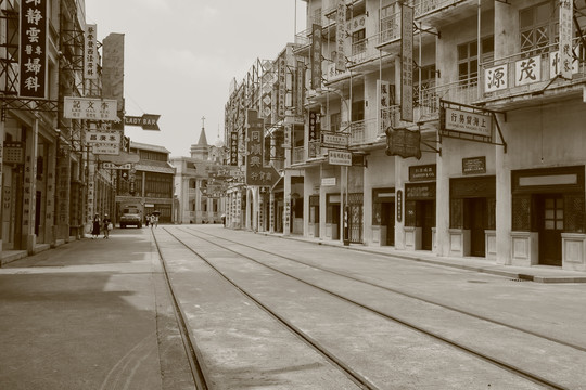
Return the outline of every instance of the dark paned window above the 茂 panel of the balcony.
{"type": "MultiPolygon", "coordinates": [[[[536,55],[548,51],[547,47],[558,41],[558,8],[548,1],[519,12],[521,51],[536,55]]],[[[556,50],[556,49],[555,49],[556,50]]]]}

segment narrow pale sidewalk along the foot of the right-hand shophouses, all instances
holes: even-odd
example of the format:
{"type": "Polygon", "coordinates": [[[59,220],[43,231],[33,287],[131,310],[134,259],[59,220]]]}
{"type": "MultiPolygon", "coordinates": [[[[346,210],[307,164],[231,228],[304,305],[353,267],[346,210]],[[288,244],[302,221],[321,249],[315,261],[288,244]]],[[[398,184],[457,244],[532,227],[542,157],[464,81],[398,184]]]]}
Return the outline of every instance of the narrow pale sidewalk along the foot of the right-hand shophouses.
{"type": "Polygon", "coordinates": [[[257,234],[263,234],[266,236],[277,236],[284,239],[313,243],[316,245],[333,246],[339,248],[345,248],[348,250],[359,250],[367,253],[395,257],[404,260],[421,261],[430,264],[453,266],[461,270],[500,275],[514,280],[533,281],[537,283],[586,283],[586,272],[564,271],[558,266],[534,265],[525,268],[500,265],[496,263],[496,260],[475,257],[440,257],[428,250],[398,250],[390,246],[375,247],[366,246],[362,244],[351,244],[348,246],[344,246],[344,244],[340,240],[326,240],[320,238],[303,237],[298,235],[284,236],[280,233],[258,232],[257,234]]]}

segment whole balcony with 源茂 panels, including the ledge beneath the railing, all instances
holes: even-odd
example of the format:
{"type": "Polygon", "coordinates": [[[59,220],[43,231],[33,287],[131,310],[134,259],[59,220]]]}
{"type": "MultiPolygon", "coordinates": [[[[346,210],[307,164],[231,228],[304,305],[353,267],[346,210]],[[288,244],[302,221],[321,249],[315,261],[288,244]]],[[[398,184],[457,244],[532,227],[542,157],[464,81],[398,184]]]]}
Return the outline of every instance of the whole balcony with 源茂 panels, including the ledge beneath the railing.
{"type": "Polygon", "coordinates": [[[581,60],[574,60],[572,64],[571,80],[557,77],[560,66],[557,43],[484,63],[481,65],[481,99],[496,106],[510,106],[513,103],[524,105],[527,100],[535,104],[547,98],[582,93],[586,64],[578,40],[574,40],[574,52],[581,60]]]}

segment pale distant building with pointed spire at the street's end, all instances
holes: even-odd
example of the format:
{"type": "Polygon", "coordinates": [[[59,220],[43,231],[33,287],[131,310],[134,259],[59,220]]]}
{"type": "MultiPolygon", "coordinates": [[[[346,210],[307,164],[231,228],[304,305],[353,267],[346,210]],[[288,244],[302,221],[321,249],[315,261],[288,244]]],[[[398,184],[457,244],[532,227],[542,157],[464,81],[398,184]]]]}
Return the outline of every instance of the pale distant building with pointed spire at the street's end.
{"type": "Polygon", "coordinates": [[[226,183],[239,172],[238,167],[226,166],[225,159],[224,142],[218,139],[209,145],[203,127],[198,143],[191,145],[190,157],[171,157],[177,170],[175,219],[178,223],[221,223],[226,183]]]}

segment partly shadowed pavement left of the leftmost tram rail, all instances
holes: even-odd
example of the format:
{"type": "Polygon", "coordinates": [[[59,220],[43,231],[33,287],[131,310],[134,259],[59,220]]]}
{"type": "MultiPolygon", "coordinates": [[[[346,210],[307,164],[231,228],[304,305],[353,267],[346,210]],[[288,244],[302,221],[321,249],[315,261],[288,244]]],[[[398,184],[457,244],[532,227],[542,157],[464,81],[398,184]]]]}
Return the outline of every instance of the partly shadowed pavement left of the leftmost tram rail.
{"type": "Polygon", "coordinates": [[[150,230],[4,264],[0,388],[184,388],[189,366],[169,308],[150,230]]]}

